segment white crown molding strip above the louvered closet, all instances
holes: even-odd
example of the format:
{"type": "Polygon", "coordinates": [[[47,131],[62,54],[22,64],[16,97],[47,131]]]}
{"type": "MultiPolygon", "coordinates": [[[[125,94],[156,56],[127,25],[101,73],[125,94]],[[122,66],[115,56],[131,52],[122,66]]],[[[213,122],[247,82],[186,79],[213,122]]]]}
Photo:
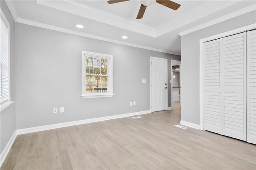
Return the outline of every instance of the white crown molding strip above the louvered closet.
{"type": "Polygon", "coordinates": [[[184,35],[189,34],[189,33],[191,33],[191,32],[195,32],[195,31],[197,31],[197,30],[201,30],[201,29],[203,29],[203,28],[212,26],[212,25],[214,25],[214,24],[218,24],[218,23],[220,23],[220,22],[229,20],[229,19],[231,19],[231,18],[234,18],[234,17],[240,16],[240,15],[246,14],[246,13],[251,12],[251,11],[254,11],[254,10],[256,10],[255,4],[253,4],[253,5],[251,5],[251,6],[248,6],[248,7],[246,7],[246,8],[242,8],[241,10],[238,10],[238,11],[236,11],[236,12],[232,12],[232,13],[230,13],[230,14],[227,14],[227,15],[222,16],[222,17],[220,17],[220,18],[217,18],[217,19],[215,19],[215,20],[206,22],[206,23],[201,24],[201,25],[199,25],[199,26],[196,26],[196,27],[194,27],[194,28],[190,28],[190,29],[188,29],[188,30],[186,30],[186,31],[183,31],[183,32],[180,32],[180,33],[178,33],[178,34],[179,34],[180,36],[184,36],[184,35]]]}

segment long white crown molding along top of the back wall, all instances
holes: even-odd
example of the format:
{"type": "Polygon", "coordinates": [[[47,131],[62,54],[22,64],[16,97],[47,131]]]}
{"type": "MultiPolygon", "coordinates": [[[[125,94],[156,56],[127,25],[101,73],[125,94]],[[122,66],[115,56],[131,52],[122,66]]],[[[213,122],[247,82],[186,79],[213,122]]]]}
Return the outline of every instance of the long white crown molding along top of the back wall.
{"type": "Polygon", "coordinates": [[[30,25],[30,26],[45,28],[45,29],[48,29],[48,30],[54,30],[54,31],[58,31],[58,32],[73,34],[73,35],[76,35],[76,36],[82,36],[82,37],[86,37],[86,38],[101,40],[101,41],[105,41],[105,42],[112,42],[112,43],[127,45],[127,46],[131,46],[131,47],[137,47],[137,48],[148,49],[148,50],[152,50],[152,51],[158,51],[158,52],[162,52],[162,53],[180,55],[180,53],[174,53],[174,52],[167,51],[167,50],[164,50],[164,49],[157,49],[157,48],[153,48],[153,47],[147,47],[147,46],[144,46],[144,45],[122,42],[122,41],[119,41],[119,40],[114,40],[114,39],[105,38],[105,37],[101,37],[101,36],[95,36],[95,35],[92,35],[92,34],[87,34],[87,33],[83,33],[83,32],[69,30],[69,29],[66,29],[66,28],[56,27],[56,26],[43,24],[43,23],[40,23],[40,22],[31,21],[31,20],[26,20],[26,19],[22,19],[22,18],[17,18],[16,22],[21,23],[21,24],[27,24],[27,25],[30,25]]]}

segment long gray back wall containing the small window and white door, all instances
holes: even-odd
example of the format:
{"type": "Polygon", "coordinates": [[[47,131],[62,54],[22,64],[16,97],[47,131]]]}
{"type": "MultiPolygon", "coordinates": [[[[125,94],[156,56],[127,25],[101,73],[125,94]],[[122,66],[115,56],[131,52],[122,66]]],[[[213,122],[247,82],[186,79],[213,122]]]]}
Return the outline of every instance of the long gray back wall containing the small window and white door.
{"type": "Polygon", "coordinates": [[[167,58],[168,65],[180,60],[25,24],[16,23],[15,29],[17,129],[150,110],[150,56],[167,58]],[[83,50],[113,55],[115,96],[80,97],[83,50]],[[131,101],[136,105],[130,107],[131,101]],[[64,107],[64,113],[53,114],[54,107],[64,107]]]}

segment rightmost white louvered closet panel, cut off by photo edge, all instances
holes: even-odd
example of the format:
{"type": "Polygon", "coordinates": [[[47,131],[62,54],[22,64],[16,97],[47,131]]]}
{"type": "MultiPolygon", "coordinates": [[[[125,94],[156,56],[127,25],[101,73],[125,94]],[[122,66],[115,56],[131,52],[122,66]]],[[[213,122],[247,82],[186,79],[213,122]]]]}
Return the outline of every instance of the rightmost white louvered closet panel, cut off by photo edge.
{"type": "Polygon", "coordinates": [[[247,142],[256,144],[256,30],[247,32],[247,142]]]}

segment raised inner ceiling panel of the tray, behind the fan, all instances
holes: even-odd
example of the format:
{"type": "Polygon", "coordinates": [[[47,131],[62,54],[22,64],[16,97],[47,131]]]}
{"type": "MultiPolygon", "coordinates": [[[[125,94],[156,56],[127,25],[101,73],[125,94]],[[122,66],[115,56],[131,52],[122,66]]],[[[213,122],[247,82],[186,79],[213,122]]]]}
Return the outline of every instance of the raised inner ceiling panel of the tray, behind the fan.
{"type": "Polygon", "coordinates": [[[108,4],[106,1],[101,0],[88,0],[88,1],[76,1],[80,2],[84,5],[91,6],[93,8],[97,8],[99,10],[126,18],[128,20],[132,20],[143,24],[145,26],[150,26],[152,28],[158,28],[162,26],[164,23],[173,20],[174,18],[206,3],[207,1],[175,1],[178,4],[182,4],[182,6],[174,11],[163,5],[160,5],[154,2],[152,5],[146,8],[146,12],[144,14],[144,18],[140,20],[136,20],[138,11],[140,9],[140,1],[139,0],[131,0],[122,3],[116,4],[108,4]],[[148,22],[147,22],[148,16],[148,22]]]}

